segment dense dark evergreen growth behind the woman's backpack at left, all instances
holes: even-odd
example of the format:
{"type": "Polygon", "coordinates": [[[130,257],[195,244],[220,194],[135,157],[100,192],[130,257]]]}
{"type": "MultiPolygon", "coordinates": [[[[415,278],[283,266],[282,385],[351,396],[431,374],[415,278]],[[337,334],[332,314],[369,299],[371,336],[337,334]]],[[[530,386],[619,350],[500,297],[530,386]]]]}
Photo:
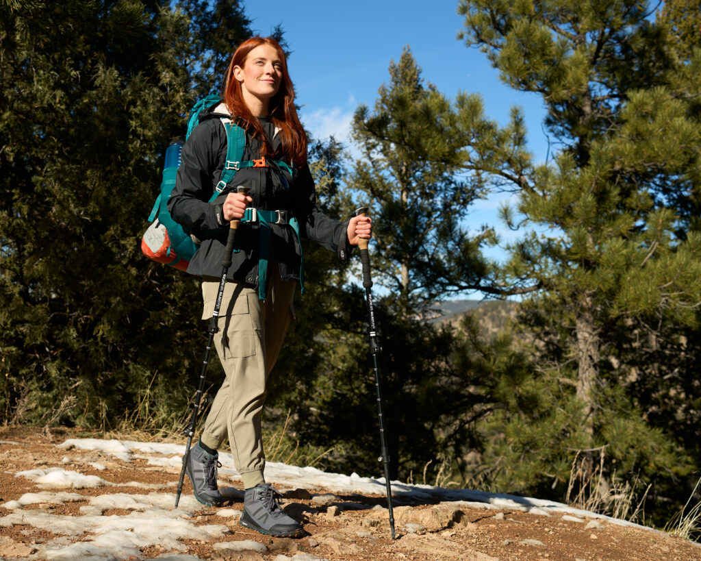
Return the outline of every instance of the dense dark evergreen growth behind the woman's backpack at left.
{"type": "Polygon", "coordinates": [[[19,3],[0,20],[2,418],[184,414],[199,290],[138,244],[163,149],[249,21],[194,0],[19,3]]]}

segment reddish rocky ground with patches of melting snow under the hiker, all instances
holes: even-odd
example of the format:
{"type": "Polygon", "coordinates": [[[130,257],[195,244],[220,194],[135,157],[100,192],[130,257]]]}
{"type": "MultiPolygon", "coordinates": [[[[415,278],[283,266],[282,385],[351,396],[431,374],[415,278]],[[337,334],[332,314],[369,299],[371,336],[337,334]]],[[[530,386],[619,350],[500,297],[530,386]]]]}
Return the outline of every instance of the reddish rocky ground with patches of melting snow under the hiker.
{"type": "Polygon", "coordinates": [[[238,525],[243,493],[236,478],[220,477],[220,485],[232,487],[225,508],[199,505],[188,484],[175,511],[179,468],[154,467],[147,454],[123,461],[62,445],[74,436],[67,430],[0,429],[0,555],[5,559],[701,560],[695,543],[593,514],[406,497],[395,503],[392,540],[382,496],[275,480],[283,507],[304,524],[306,534],[270,538],[238,525]],[[85,481],[93,476],[94,485],[57,478],[48,485],[46,476],[34,477],[50,468],[61,468],[54,475],[79,473],[85,481]],[[145,518],[136,518],[137,511],[145,518]],[[145,526],[156,527],[156,538],[148,537],[145,526]]]}

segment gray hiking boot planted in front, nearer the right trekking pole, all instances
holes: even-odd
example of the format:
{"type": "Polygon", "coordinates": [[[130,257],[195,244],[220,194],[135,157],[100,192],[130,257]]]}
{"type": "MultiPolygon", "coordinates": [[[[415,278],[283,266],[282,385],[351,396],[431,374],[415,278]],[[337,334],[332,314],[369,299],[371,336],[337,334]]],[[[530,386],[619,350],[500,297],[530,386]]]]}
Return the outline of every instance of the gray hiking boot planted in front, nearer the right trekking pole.
{"type": "Polygon", "coordinates": [[[276,496],[280,496],[280,493],[270,483],[246,489],[240,524],[268,536],[301,536],[304,533],[301,525],[280,508],[276,496]]]}

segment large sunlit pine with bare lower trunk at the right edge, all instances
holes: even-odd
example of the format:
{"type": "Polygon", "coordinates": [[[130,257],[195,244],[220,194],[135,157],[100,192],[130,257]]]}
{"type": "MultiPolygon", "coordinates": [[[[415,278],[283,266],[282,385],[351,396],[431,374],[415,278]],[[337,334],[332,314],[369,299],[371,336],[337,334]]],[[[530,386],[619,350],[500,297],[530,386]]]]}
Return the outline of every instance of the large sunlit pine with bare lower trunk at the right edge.
{"type": "Polygon", "coordinates": [[[463,0],[458,11],[465,41],[503,81],[543,96],[560,147],[550,162],[491,172],[512,182],[526,221],[551,232],[511,248],[506,273],[541,289],[522,318],[538,370],[515,388],[532,399],[511,401],[492,457],[508,459],[506,476],[521,488],[562,498],[573,460],[586,484],[605,450],[603,480],[639,473],[658,496],[673,493],[693,464],[673,429],[651,422],[652,400],[635,384],[672,371],[634,355],[658,325],[697,330],[701,238],[679,208],[695,204],[700,163],[694,102],[680,95],[688,61],[675,67],[667,28],[645,1],[463,0]]]}

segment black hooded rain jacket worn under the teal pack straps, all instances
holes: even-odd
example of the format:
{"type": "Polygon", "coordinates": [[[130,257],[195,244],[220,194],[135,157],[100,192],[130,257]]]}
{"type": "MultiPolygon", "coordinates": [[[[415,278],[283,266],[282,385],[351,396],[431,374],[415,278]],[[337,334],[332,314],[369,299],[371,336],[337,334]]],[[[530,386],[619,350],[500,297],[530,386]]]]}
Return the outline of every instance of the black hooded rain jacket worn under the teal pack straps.
{"type": "MultiPolygon", "coordinates": [[[[219,119],[222,116],[229,116],[224,104],[212,106],[200,116],[200,124],[182,149],[182,164],[168,200],[168,211],[175,222],[202,240],[187,272],[200,276],[222,275],[222,258],[229,230],[229,223],[223,221],[222,204],[226,194],[238,186],[250,187],[249,195],[253,198],[250,206],[253,208],[292,211],[303,236],[337,252],[341,260],[348,259],[351,255],[346,235],[348,222],[329,218],[318,208],[314,180],[306,164],[295,169],[294,177],[272,163],[269,168],[243,168],[236,172],[215,201],[207,202],[215,192],[226,161],[226,130],[219,119]]],[[[273,125],[266,119],[261,119],[261,123],[268,138],[273,139],[275,156],[270,159],[283,160],[279,135],[275,135],[273,125]]],[[[247,134],[243,160],[259,158],[259,142],[247,134]]],[[[233,254],[227,275],[229,280],[257,287],[259,228],[254,224],[240,225],[236,233],[236,245],[240,251],[233,254]]],[[[300,280],[301,248],[292,227],[271,225],[270,251],[269,259],[280,264],[283,280],[300,280]]]]}

